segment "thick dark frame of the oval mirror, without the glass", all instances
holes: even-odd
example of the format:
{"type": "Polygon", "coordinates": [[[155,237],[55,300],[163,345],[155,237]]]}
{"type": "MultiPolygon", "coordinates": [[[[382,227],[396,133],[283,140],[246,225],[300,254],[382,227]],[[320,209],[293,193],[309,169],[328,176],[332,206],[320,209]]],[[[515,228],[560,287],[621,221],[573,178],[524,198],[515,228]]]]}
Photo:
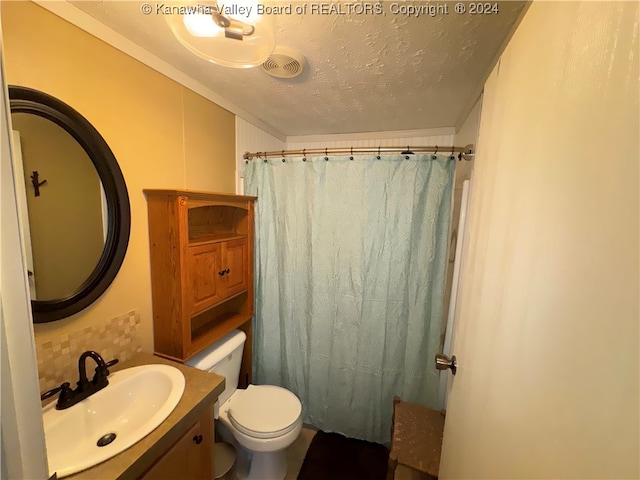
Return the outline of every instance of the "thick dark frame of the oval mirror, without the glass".
{"type": "Polygon", "coordinates": [[[116,277],[129,244],[129,194],[113,152],[80,113],[51,95],[27,87],[9,85],[9,101],[11,113],[30,113],[44,117],[75,138],[93,162],[107,202],[107,238],[98,264],[89,278],[66,298],[31,301],[34,323],[52,322],[91,305],[116,277]]]}

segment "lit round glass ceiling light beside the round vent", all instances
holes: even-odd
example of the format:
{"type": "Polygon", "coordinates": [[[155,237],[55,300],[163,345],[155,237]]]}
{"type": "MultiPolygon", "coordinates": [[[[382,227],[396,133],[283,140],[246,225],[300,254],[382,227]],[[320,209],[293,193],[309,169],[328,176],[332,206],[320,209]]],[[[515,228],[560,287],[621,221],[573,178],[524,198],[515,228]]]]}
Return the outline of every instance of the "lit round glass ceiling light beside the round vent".
{"type": "Polygon", "coordinates": [[[276,46],[273,16],[258,8],[258,0],[181,3],[165,18],[191,53],[224,67],[251,68],[276,46]]]}

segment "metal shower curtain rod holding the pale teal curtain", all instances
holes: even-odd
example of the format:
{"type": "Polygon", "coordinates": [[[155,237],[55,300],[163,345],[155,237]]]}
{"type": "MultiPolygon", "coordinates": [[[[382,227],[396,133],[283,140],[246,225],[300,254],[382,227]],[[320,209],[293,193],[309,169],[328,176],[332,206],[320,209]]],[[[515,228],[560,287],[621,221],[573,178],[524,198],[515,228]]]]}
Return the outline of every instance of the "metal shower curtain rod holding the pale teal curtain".
{"type": "Polygon", "coordinates": [[[403,155],[411,155],[413,153],[442,153],[451,154],[458,152],[458,160],[473,160],[475,155],[474,146],[467,145],[466,147],[439,147],[437,145],[433,147],[340,147],[340,148],[303,148],[302,150],[274,150],[271,152],[245,152],[242,158],[249,161],[254,158],[267,158],[267,157],[286,157],[287,155],[329,155],[330,153],[341,153],[343,155],[360,154],[381,154],[381,153],[397,153],[403,155]]]}

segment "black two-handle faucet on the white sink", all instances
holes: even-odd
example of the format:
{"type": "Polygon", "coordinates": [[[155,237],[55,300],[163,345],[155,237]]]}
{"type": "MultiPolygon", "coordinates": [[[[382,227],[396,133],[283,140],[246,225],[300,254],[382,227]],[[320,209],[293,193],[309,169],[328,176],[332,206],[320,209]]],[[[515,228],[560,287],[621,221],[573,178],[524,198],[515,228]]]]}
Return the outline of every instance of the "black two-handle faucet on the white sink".
{"type": "Polygon", "coordinates": [[[112,367],[116,363],[118,363],[118,359],[111,360],[110,362],[105,363],[102,357],[93,350],[84,352],[78,359],[78,373],[80,378],[78,380],[78,386],[76,387],[76,389],[71,389],[69,382],[64,382],[59,387],[43,393],[40,396],[40,400],[52,397],[56,393],[60,392],[58,403],[56,403],[56,410],[64,410],[65,408],[72,407],[76,403],[84,400],[85,398],[93,395],[97,391],[102,390],[104,387],[109,385],[109,380],[107,380],[107,377],[109,376],[109,367],[112,367]],[[93,360],[98,365],[91,380],[87,378],[86,361],[88,357],[93,358],[93,360]]]}

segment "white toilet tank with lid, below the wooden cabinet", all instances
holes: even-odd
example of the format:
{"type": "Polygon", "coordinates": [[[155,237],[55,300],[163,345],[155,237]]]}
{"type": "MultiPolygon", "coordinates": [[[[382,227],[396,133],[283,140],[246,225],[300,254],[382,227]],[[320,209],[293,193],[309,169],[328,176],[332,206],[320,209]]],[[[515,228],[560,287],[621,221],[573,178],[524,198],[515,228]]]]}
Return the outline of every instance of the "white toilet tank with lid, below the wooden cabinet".
{"type": "Polygon", "coordinates": [[[218,406],[226,402],[238,388],[242,349],[246,338],[243,331],[234,330],[186,362],[190,367],[214,372],[225,378],[224,392],[218,397],[216,412],[218,406]]]}

